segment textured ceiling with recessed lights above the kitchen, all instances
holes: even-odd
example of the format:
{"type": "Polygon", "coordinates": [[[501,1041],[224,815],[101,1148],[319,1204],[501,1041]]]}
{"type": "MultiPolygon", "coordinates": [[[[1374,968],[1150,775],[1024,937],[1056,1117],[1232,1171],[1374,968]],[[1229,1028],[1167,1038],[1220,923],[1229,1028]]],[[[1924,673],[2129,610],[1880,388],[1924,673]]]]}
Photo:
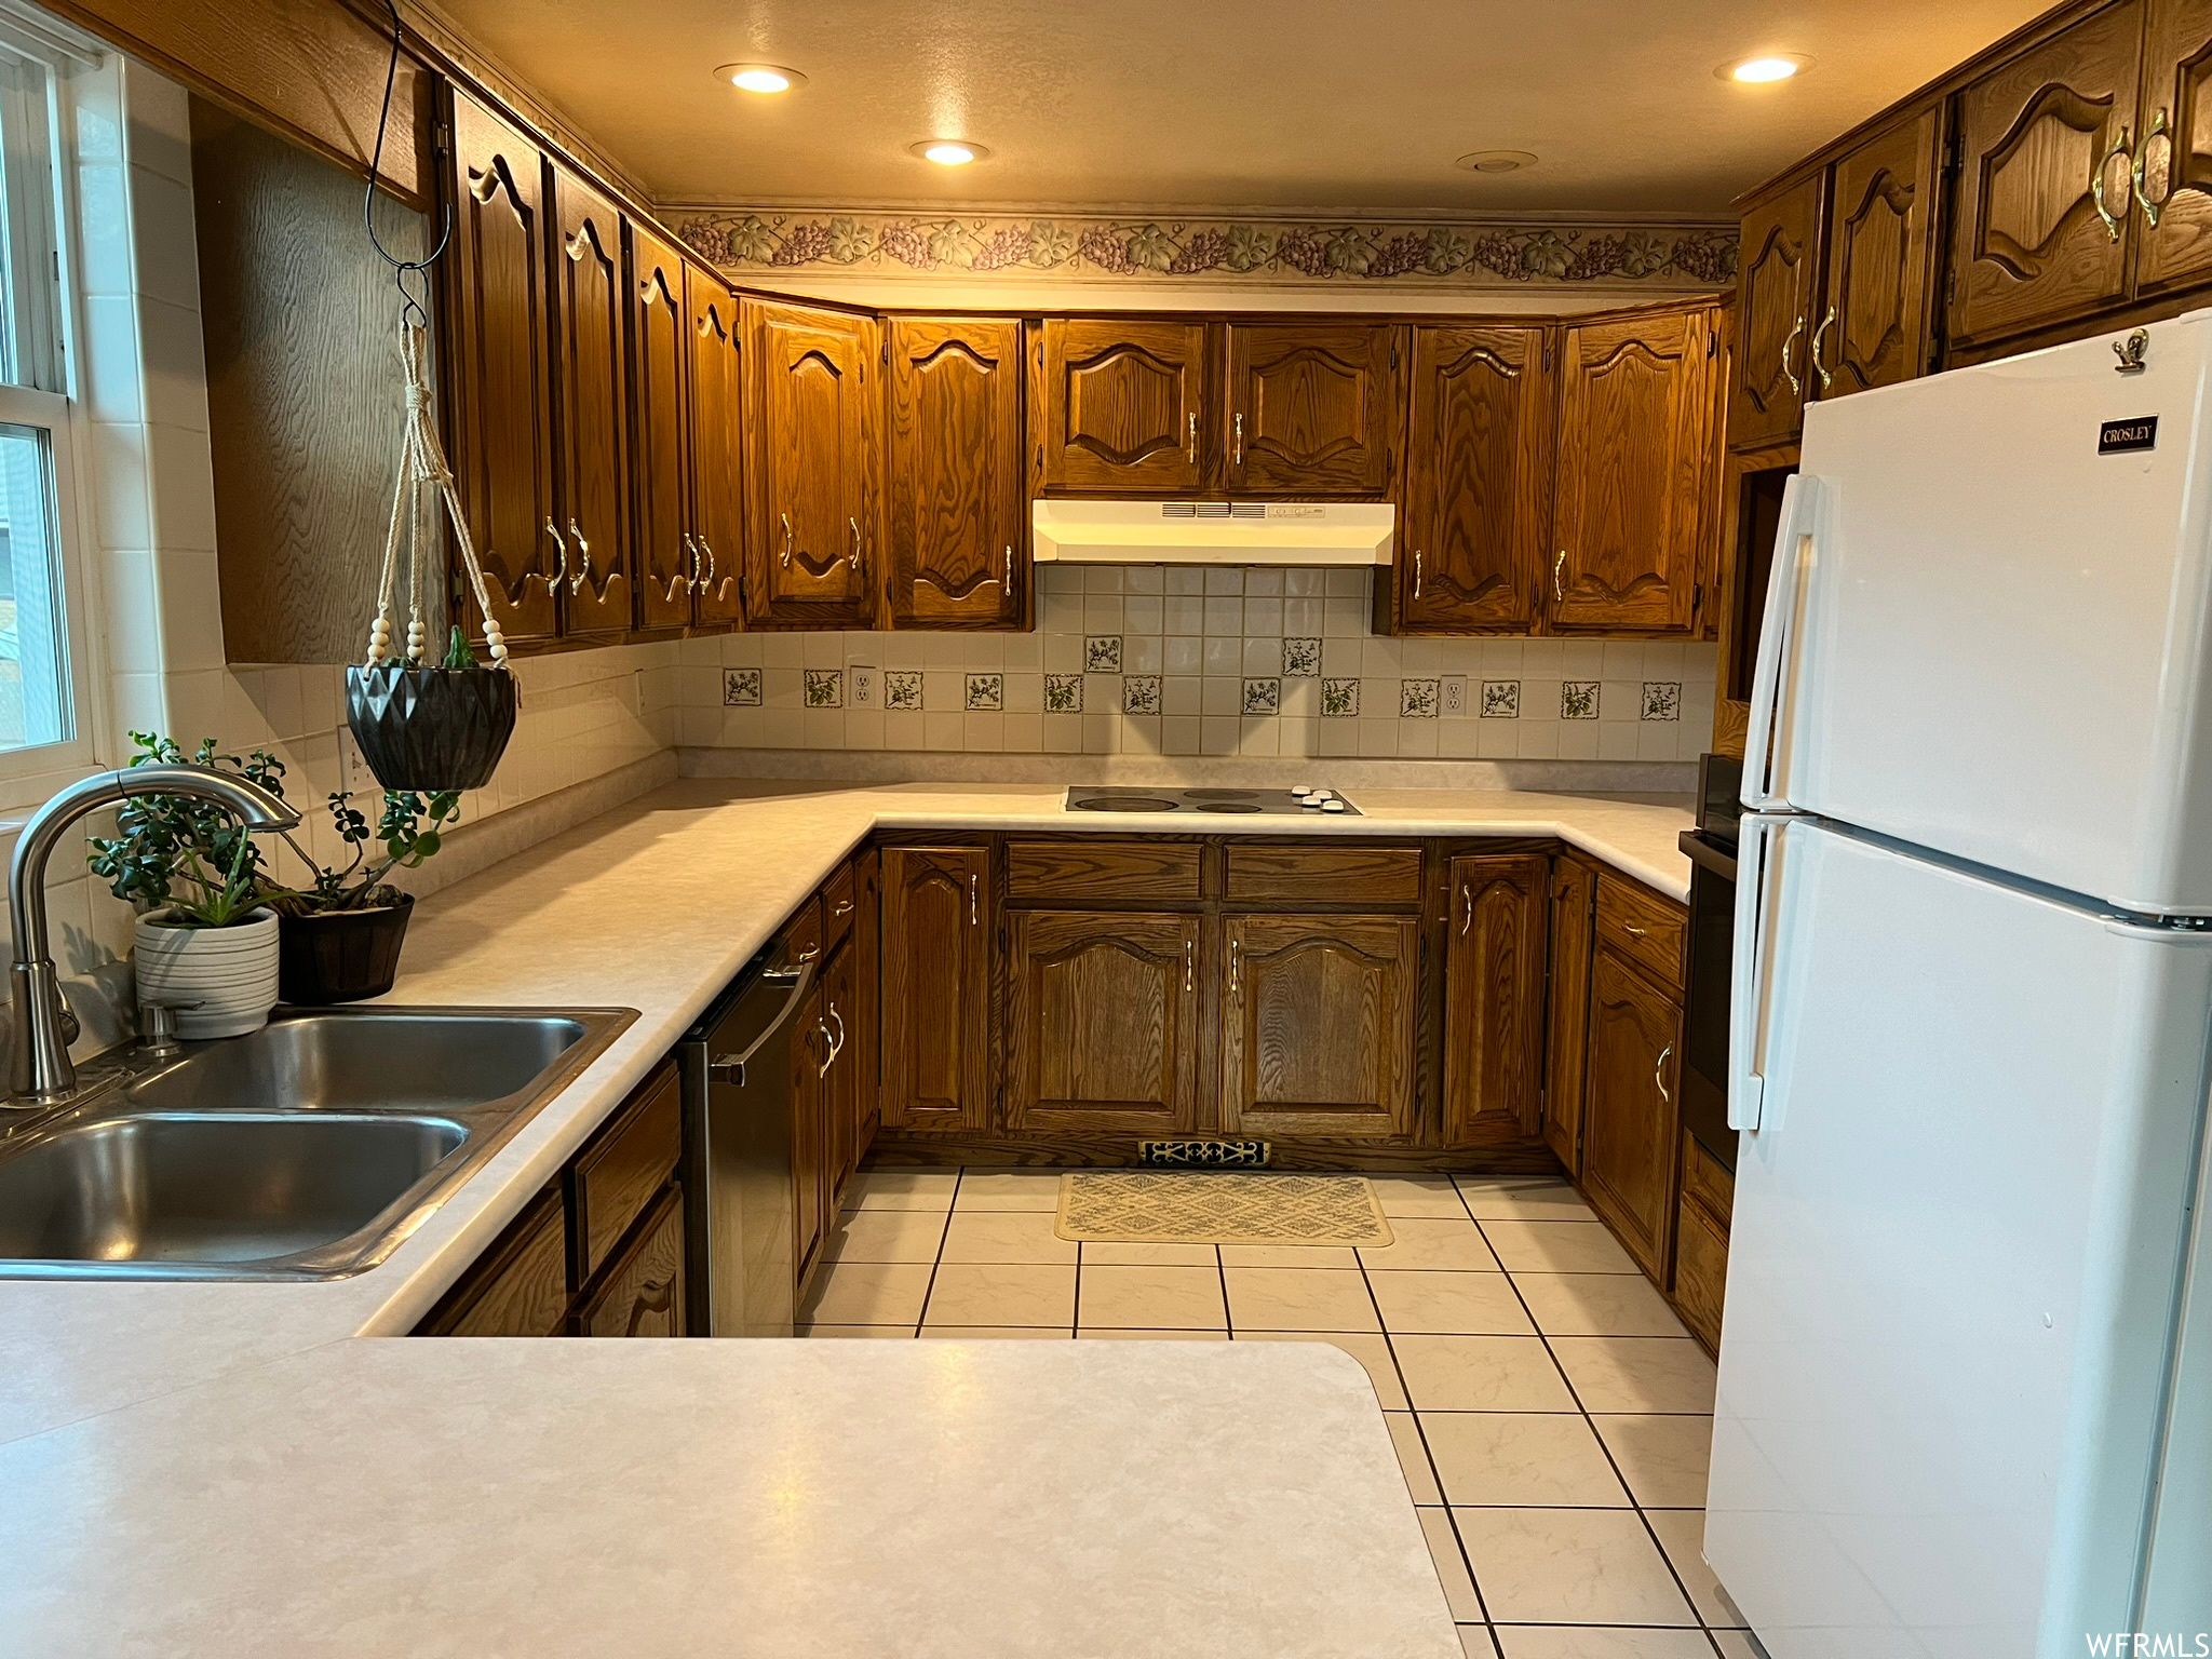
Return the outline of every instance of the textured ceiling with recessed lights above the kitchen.
{"type": "Polygon", "coordinates": [[[438,0],[661,201],[1717,215],[2042,0],[438,0]],[[1814,58],[1778,86],[1714,66],[1814,58]],[[752,97],[714,64],[810,80],[752,97]],[[991,148],[947,170],[925,137],[991,148]],[[1535,150],[1513,175],[1469,150],[1535,150]]]}

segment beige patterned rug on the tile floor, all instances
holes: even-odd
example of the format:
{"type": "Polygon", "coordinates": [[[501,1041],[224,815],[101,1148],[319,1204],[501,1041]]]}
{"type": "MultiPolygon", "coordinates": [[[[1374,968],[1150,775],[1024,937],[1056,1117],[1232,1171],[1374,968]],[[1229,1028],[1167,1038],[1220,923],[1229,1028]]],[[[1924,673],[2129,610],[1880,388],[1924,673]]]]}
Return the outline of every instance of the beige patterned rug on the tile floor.
{"type": "Polygon", "coordinates": [[[1068,1170],[1053,1230],[1088,1243],[1391,1241],[1376,1190],[1360,1175],[1068,1170]]]}

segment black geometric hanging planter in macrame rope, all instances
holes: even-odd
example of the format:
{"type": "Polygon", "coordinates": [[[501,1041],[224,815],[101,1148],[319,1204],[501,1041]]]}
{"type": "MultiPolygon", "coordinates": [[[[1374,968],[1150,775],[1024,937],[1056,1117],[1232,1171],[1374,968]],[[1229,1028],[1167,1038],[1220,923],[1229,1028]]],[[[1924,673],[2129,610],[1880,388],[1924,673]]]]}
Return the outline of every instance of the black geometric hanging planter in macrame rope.
{"type": "Polygon", "coordinates": [[[515,677],[504,668],[345,670],[345,723],[387,790],[480,790],[515,734],[515,677]]]}

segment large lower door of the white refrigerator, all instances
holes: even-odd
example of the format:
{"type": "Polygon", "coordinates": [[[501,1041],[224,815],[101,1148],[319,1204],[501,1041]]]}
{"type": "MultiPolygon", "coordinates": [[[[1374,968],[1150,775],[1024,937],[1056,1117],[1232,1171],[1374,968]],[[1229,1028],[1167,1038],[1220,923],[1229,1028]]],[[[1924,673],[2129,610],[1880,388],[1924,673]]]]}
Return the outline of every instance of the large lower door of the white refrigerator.
{"type": "Polygon", "coordinates": [[[1803,818],[1765,860],[1705,1559],[1774,1659],[2073,1659],[2132,1628],[2212,938],[1803,818]]]}

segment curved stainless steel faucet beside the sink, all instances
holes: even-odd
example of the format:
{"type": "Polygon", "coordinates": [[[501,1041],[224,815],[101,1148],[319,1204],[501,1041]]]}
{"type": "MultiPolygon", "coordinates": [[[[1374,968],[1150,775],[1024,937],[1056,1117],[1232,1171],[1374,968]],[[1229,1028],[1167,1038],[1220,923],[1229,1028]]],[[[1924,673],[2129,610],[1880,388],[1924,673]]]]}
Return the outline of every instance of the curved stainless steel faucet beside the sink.
{"type": "Polygon", "coordinates": [[[62,832],[100,807],[135,794],[184,794],[228,807],[248,830],[290,830],[299,814],[259,783],[204,765],[135,765],[128,772],[95,772],[71,783],[15,838],[9,869],[9,933],[15,967],[9,975],[9,1006],[15,1015],[15,1053],[9,1057],[9,1106],[51,1106],[77,1086],[62,1033],[62,987],[46,953],[46,858],[62,832]]]}

